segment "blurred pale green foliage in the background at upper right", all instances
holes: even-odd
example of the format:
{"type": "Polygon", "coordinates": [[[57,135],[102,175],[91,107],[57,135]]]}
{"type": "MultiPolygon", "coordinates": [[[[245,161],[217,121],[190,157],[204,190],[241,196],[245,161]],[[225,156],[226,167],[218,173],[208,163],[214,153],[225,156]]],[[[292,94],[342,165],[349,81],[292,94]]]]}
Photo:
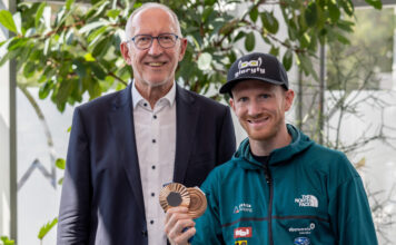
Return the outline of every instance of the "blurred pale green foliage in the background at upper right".
{"type": "Polygon", "coordinates": [[[367,78],[375,77],[377,72],[392,71],[393,36],[396,28],[394,10],[389,8],[379,12],[362,9],[355,12],[355,19],[357,24],[354,32],[345,36],[350,45],[328,46],[328,89],[378,89],[378,79],[367,78]]]}

